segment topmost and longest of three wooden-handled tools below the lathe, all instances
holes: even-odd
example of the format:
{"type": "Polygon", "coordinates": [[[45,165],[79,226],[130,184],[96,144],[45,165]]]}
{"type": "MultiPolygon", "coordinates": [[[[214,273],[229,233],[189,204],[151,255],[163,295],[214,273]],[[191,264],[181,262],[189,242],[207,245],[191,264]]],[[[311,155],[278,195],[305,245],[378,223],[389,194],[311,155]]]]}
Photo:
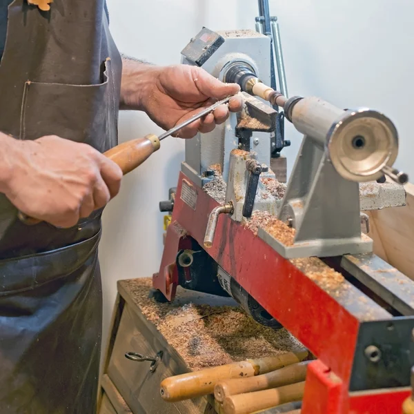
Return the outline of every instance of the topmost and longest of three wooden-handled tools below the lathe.
{"type": "Polygon", "coordinates": [[[253,377],[254,375],[268,373],[283,366],[301,362],[307,356],[308,351],[288,352],[273,357],[248,359],[247,361],[175,375],[161,382],[161,397],[165,401],[176,402],[212,394],[215,384],[220,380],[253,377]]]}

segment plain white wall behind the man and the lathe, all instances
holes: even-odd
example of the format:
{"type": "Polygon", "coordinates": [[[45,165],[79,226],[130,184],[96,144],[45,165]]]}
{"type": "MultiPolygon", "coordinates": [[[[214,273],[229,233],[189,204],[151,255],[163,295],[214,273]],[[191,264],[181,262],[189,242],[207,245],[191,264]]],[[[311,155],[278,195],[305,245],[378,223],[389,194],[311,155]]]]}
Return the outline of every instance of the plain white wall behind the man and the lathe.
{"type": "MultiPolygon", "coordinates": [[[[119,49],[160,65],[179,63],[181,49],[201,26],[254,28],[257,15],[255,0],[108,0],[108,6],[119,49]]],[[[319,95],[342,108],[384,111],[400,132],[397,166],[414,175],[414,2],[270,0],[270,9],[282,30],[290,96],[319,95]]],[[[121,141],[157,131],[146,115],[121,113],[121,141]]],[[[284,153],[291,168],[300,136],[288,126],[287,138],[292,146],[284,153]]],[[[163,141],[159,152],[124,179],[106,208],[100,250],[105,326],[116,281],[158,270],[163,233],[158,202],[177,184],[183,149],[179,139],[163,141]]]]}

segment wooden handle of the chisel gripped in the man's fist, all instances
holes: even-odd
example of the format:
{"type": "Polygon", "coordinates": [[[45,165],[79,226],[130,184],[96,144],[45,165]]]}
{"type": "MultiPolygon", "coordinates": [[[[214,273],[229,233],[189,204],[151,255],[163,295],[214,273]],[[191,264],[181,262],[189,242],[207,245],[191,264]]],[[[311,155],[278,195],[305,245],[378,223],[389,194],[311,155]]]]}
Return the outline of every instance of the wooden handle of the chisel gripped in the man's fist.
{"type": "MultiPolygon", "coordinates": [[[[103,155],[112,159],[115,164],[118,164],[124,175],[126,175],[128,172],[139,167],[153,152],[159,150],[159,147],[160,144],[157,135],[150,134],[144,138],[132,139],[131,141],[119,144],[103,152],[103,155]]],[[[17,217],[29,226],[41,222],[41,220],[29,217],[20,211],[17,213],[17,217]]]]}

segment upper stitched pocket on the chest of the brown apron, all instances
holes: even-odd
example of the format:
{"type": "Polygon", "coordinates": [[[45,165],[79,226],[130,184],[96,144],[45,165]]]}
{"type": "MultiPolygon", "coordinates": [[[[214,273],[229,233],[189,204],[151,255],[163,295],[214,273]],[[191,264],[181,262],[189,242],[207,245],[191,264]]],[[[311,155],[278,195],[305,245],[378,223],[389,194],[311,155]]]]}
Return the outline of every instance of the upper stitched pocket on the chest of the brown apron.
{"type": "Polygon", "coordinates": [[[110,59],[105,61],[103,82],[96,85],[27,81],[21,106],[20,139],[57,135],[89,144],[101,152],[109,149],[116,144],[112,142],[112,129],[116,126],[108,99],[110,81],[110,59]]]}

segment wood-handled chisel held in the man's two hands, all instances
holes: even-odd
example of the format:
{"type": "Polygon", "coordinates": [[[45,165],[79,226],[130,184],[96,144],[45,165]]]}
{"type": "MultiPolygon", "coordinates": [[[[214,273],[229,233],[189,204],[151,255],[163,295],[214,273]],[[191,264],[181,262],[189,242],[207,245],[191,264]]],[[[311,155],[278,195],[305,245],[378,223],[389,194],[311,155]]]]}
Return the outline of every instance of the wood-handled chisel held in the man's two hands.
{"type": "MultiPolygon", "coordinates": [[[[162,141],[164,138],[175,134],[175,132],[179,131],[181,128],[184,128],[185,126],[192,124],[194,121],[197,121],[197,119],[208,115],[210,112],[213,112],[218,106],[230,101],[231,98],[232,97],[227,97],[225,99],[221,99],[221,101],[217,101],[193,117],[159,135],[159,137],[157,137],[157,135],[150,134],[146,135],[144,138],[132,139],[131,141],[124,142],[123,144],[119,144],[118,146],[115,146],[114,148],[103,152],[103,155],[109,159],[112,159],[115,164],[118,164],[119,167],[121,167],[124,175],[126,175],[128,172],[131,172],[132,170],[135,170],[135,168],[139,167],[144,161],[146,161],[146,159],[150,157],[150,155],[152,155],[153,152],[159,150],[160,141],[162,141]]],[[[35,219],[33,217],[29,217],[24,213],[21,213],[21,211],[17,213],[17,217],[19,217],[19,219],[23,221],[24,224],[28,224],[29,226],[41,222],[39,219],[35,219]]]]}

